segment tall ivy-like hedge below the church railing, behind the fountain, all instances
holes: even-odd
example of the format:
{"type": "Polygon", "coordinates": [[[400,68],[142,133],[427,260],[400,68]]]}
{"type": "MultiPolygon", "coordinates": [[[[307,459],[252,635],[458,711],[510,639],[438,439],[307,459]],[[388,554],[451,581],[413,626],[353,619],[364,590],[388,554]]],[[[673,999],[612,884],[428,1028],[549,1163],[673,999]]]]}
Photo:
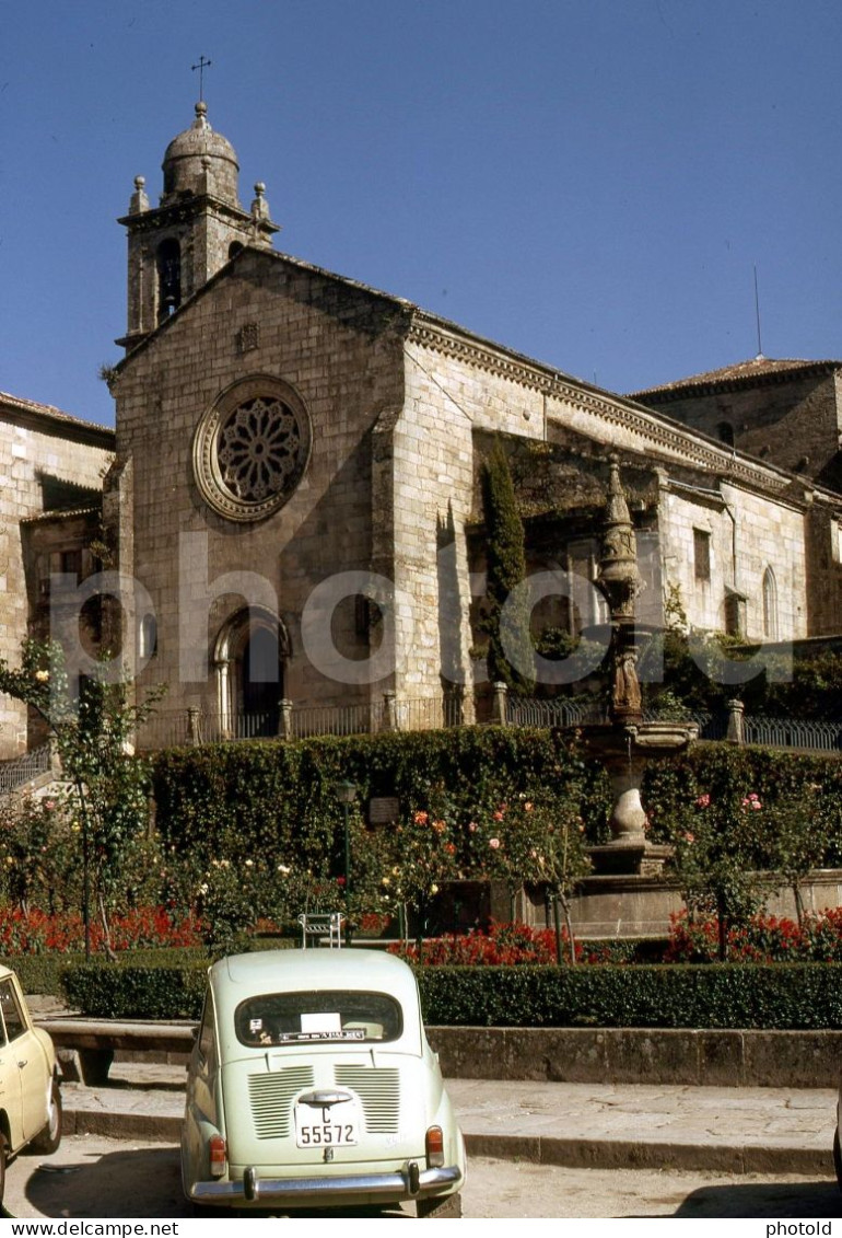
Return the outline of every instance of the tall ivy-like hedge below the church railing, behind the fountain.
{"type": "MultiPolygon", "coordinates": [[[[350,735],[284,743],[205,744],[169,749],[155,758],[157,826],[167,847],[182,854],[228,857],[318,857],[339,846],[339,777],[359,789],[359,806],[371,796],[397,796],[408,815],[446,789],[454,820],[469,820],[477,795],[486,802],[517,794],[548,800],[570,775],[581,773],[570,734],[530,727],[455,727],[445,730],[350,735]]],[[[804,755],[696,744],[670,761],[653,761],[643,801],[653,841],[704,791],[739,786],[775,802],[821,784],[823,801],[842,805],[842,761],[804,755]]],[[[611,796],[605,770],[586,761],[581,815],[589,843],[608,839],[611,796]]],[[[842,811],[828,816],[822,867],[842,864],[842,811]]],[[[307,867],[307,865],[305,865],[307,867]]]]}

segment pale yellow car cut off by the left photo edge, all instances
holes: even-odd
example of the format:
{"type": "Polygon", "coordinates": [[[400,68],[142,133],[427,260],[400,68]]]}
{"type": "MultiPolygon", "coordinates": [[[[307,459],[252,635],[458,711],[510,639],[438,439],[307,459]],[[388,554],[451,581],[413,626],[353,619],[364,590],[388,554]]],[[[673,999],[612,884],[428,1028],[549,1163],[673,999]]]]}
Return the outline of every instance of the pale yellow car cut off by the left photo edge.
{"type": "Polygon", "coordinates": [[[27,1145],[54,1153],[62,1141],[56,1050],[32,1023],[15,973],[0,966],[0,1202],[6,1161],[27,1145]]]}

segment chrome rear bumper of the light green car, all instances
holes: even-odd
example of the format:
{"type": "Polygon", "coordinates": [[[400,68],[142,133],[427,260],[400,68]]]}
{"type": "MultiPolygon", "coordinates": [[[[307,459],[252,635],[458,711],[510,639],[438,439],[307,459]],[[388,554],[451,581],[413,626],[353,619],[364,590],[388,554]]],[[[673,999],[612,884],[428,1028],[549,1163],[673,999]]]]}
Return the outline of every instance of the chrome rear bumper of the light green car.
{"type": "Polygon", "coordinates": [[[457,1165],[445,1169],[418,1170],[410,1162],[406,1170],[394,1174],[347,1174],[342,1177],[257,1177],[246,1170],[234,1182],[195,1182],[190,1198],[197,1203],[307,1203],[321,1201],[330,1207],[339,1196],[375,1196],[383,1200],[418,1200],[428,1195],[441,1195],[448,1187],[459,1186],[462,1171],[457,1165]],[[418,1175],[418,1190],[410,1188],[410,1179],[418,1175]]]}

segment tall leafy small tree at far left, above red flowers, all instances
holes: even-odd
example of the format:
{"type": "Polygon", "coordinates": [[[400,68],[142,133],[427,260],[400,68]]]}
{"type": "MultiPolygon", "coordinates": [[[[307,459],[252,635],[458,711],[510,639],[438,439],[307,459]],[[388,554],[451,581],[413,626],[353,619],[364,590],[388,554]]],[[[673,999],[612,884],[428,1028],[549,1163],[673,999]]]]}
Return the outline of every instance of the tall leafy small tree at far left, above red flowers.
{"type": "Polygon", "coordinates": [[[82,836],[85,954],[90,954],[91,893],[109,948],[108,906],[121,862],[148,822],[148,766],[131,755],[131,745],[162,690],[136,704],[127,683],[101,675],[85,680],[73,701],[61,645],[26,640],[19,670],[0,659],[0,692],[35,709],[53,737],[66,780],[63,801],[82,836]]]}

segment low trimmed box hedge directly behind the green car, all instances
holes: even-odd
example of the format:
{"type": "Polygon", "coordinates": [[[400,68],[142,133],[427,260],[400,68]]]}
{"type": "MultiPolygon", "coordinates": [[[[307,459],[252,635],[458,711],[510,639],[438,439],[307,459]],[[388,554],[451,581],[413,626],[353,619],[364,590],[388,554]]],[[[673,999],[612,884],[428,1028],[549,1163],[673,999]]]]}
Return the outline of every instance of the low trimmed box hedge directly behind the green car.
{"type": "MultiPolygon", "coordinates": [[[[206,961],[66,967],[84,1014],[198,1019],[206,961]]],[[[842,1028],[842,964],[430,967],[415,972],[432,1025],[509,1028],[842,1028]]]]}

